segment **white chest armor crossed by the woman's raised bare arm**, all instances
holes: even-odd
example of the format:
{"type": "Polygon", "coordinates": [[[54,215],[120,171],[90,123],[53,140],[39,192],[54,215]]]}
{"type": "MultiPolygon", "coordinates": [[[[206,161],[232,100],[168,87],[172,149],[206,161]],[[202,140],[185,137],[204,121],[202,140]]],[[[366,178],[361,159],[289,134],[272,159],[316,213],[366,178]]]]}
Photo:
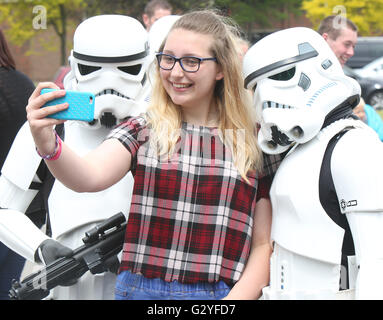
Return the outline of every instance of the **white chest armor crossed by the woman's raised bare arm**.
{"type": "MultiPolygon", "coordinates": [[[[77,122],[65,123],[65,143],[79,155],[100,145],[107,133],[104,128],[91,130],[77,122]]],[[[120,211],[127,217],[132,189],[130,173],[112,187],[96,193],[77,193],[56,180],[48,200],[52,237],[57,238],[76,227],[106,219],[120,211]]]]}

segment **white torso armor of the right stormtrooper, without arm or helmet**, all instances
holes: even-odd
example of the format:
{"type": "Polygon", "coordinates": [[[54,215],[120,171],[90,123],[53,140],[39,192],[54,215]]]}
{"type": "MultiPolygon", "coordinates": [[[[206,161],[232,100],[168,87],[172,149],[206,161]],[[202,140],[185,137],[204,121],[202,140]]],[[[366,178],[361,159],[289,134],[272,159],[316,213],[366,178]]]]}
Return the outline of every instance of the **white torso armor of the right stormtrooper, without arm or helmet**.
{"type": "Polygon", "coordinates": [[[322,208],[319,175],[328,142],[348,123],[337,121],[297,146],[276,173],[270,190],[275,247],[268,288],[274,294],[293,292],[290,298],[297,298],[304,291],[307,297],[312,290],[331,298],[329,292],[338,290],[344,230],[322,208]]]}

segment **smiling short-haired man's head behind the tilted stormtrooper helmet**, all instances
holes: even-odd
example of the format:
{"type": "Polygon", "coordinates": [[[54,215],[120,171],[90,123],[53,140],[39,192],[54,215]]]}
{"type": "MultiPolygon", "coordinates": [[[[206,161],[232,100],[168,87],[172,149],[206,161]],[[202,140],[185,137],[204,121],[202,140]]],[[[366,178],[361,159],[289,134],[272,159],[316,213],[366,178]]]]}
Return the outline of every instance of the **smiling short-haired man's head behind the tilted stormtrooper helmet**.
{"type": "Polygon", "coordinates": [[[332,15],[324,18],[318,33],[326,40],[343,67],[354,55],[358,39],[358,27],[346,17],[332,15]]]}

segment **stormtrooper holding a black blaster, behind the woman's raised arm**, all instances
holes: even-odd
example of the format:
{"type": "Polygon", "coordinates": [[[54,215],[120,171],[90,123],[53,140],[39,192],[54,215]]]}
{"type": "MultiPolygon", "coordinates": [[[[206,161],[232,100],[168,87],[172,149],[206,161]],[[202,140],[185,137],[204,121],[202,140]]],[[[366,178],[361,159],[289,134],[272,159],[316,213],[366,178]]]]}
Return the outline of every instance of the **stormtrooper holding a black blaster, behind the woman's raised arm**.
{"type": "MultiPolygon", "coordinates": [[[[74,34],[69,57],[71,71],[64,79],[64,87],[92,92],[96,97],[95,114],[89,123],[65,122],[62,134],[65,142],[79,154],[86,154],[103,141],[112,126],[127,116],[144,112],[150,95],[146,79],[149,62],[148,34],[136,19],[101,15],[83,21],[74,34]]],[[[47,187],[49,175],[26,123],[12,145],[0,177],[0,240],[32,262],[47,262],[46,245],[63,254],[66,247],[81,246],[86,231],[118,212],[127,215],[130,206],[133,186],[130,174],[94,194],[73,192],[53,178],[47,187]],[[50,236],[24,215],[38,190],[47,198],[46,225],[50,236]]],[[[52,290],[52,298],[112,299],[114,284],[115,275],[111,272],[100,275],[87,272],[76,284],[52,290]]]]}

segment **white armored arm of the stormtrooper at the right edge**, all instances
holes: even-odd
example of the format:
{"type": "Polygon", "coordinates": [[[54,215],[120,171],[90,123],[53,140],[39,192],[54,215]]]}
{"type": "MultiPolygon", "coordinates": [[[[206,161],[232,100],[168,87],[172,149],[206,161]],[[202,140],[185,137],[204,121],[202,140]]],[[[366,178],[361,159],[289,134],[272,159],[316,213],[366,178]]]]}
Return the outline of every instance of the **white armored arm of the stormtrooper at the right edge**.
{"type": "Polygon", "coordinates": [[[357,299],[383,299],[383,144],[353,129],[336,145],[331,172],[359,266],[357,299]]]}

